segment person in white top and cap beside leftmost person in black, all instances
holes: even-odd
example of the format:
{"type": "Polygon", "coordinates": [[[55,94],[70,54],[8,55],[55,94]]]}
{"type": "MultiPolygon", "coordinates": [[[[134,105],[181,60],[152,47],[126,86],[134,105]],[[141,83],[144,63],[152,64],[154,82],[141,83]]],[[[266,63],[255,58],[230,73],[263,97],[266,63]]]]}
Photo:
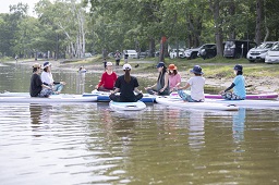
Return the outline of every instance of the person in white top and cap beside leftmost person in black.
{"type": "Polygon", "coordinates": [[[54,82],[52,74],[51,74],[51,63],[45,62],[44,63],[44,71],[41,73],[41,81],[45,85],[52,88],[53,94],[60,94],[63,89],[65,82],[54,82]]]}

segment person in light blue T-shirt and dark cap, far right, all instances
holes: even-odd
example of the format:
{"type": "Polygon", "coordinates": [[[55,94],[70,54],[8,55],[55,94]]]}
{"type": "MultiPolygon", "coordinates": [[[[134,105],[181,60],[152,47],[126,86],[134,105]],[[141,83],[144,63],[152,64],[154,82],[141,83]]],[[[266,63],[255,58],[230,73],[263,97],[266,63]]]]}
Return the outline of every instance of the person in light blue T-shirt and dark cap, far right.
{"type": "Polygon", "coordinates": [[[226,90],[221,90],[219,94],[223,99],[227,100],[244,100],[246,98],[245,89],[245,78],[243,76],[243,67],[240,64],[236,64],[234,67],[234,74],[236,75],[233,79],[233,83],[226,90]],[[233,89],[233,91],[229,91],[233,89]]]}

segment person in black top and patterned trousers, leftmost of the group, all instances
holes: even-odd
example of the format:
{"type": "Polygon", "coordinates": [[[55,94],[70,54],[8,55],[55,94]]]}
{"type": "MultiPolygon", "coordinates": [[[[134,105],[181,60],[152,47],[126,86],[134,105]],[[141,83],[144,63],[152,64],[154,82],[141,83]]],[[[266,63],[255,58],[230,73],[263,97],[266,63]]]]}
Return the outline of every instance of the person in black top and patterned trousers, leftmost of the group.
{"type": "Polygon", "coordinates": [[[47,98],[52,94],[52,89],[51,87],[43,84],[39,73],[40,73],[40,64],[35,63],[33,65],[33,75],[31,77],[29,94],[31,94],[31,97],[47,98]]]}

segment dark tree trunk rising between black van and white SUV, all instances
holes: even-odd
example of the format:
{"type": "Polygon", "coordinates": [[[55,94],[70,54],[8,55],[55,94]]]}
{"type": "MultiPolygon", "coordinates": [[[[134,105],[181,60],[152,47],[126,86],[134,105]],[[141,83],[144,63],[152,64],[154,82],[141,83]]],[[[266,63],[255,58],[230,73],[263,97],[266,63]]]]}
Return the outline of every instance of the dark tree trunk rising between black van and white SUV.
{"type": "Polygon", "coordinates": [[[263,23],[263,2],[262,0],[257,0],[256,2],[256,44],[259,45],[262,40],[262,23],[263,23]]]}

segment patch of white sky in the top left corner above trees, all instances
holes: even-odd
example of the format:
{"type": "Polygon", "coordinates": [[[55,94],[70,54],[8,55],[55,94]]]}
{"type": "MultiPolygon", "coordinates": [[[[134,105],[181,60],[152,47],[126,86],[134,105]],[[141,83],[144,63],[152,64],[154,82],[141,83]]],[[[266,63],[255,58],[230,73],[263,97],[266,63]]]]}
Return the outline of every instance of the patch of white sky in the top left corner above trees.
{"type": "Polygon", "coordinates": [[[0,0],[0,13],[9,13],[10,5],[17,4],[19,2],[27,3],[29,5],[28,14],[33,15],[35,3],[39,0],[0,0]]]}

